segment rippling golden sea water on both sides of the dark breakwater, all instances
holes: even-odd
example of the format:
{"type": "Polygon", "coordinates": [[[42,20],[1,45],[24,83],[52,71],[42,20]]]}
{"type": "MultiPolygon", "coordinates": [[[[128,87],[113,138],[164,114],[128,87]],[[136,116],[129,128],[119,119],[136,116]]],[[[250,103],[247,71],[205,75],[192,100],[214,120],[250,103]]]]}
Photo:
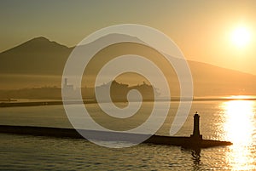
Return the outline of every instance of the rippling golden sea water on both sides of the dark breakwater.
{"type": "MultiPolygon", "coordinates": [[[[96,105],[90,109],[97,114],[96,105]]],[[[194,102],[177,135],[191,134],[195,111],[203,138],[234,145],[201,151],[166,145],[112,149],[86,140],[0,134],[0,170],[256,170],[256,101],[194,102]]],[[[168,134],[169,117],[157,134],[168,134]]],[[[0,124],[71,127],[61,105],[1,108],[0,124]]]]}

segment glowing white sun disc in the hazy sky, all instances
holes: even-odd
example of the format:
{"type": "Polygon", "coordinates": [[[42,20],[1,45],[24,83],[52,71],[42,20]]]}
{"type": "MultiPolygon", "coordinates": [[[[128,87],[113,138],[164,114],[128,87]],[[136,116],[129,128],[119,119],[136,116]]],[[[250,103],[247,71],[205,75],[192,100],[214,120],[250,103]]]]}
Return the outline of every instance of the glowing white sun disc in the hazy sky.
{"type": "Polygon", "coordinates": [[[237,48],[244,48],[251,41],[251,31],[246,26],[238,26],[231,32],[231,41],[237,48]]]}

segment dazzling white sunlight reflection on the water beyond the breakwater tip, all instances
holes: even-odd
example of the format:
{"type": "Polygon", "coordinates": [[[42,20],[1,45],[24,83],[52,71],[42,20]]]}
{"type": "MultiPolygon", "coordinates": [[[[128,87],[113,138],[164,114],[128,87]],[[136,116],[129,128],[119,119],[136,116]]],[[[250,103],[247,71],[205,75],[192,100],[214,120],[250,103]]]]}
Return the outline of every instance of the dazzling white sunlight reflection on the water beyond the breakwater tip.
{"type": "Polygon", "coordinates": [[[255,170],[255,101],[230,100],[222,104],[223,128],[233,145],[226,153],[232,170],[255,170]]]}

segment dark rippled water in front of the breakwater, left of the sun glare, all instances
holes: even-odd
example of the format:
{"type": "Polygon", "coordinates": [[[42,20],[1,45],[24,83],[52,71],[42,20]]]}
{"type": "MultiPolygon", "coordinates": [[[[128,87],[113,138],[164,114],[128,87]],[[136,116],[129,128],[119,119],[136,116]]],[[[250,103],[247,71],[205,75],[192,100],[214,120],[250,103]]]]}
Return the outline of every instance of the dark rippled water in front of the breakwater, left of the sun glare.
{"type": "Polygon", "coordinates": [[[230,147],[195,151],[166,145],[109,149],[85,140],[1,134],[3,170],[205,170],[229,168],[230,147]]]}

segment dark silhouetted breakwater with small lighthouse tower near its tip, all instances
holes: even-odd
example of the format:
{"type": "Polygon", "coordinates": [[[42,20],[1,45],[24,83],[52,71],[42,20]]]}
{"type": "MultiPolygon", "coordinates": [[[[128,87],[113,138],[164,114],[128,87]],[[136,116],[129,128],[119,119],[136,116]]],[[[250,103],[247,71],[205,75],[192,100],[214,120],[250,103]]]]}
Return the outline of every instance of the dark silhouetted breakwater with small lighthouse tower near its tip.
{"type": "MultiPolygon", "coordinates": [[[[114,141],[116,140],[115,137],[119,137],[119,141],[131,143],[136,142],[138,137],[148,137],[147,134],[128,134],[85,129],[80,129],[79,132],[77,132],[77,130],[73,128],[48,128],[10,125],[0,125],[0,133],[30,134],[36,136],[49,136],[56,138],[84,139],[84,137],[79,134],[83,133],[86,134],[86,138],[89,140],[96,140],[97,138],[97,140],[114,141]]],[[[197,113],[195,113],[194,116],[194,131],[193,134],[191,134],[189,137],[152,135],[148,140],[145,140],[143,143],[150,143],[154,145],[177,145],[182,146],[183,148],[191,149],[208,148],[220,145],[232,145],[232,143],[229,141],[203,140],[199,130],[199,115],[197,113]]]]}

